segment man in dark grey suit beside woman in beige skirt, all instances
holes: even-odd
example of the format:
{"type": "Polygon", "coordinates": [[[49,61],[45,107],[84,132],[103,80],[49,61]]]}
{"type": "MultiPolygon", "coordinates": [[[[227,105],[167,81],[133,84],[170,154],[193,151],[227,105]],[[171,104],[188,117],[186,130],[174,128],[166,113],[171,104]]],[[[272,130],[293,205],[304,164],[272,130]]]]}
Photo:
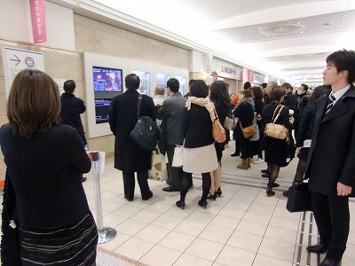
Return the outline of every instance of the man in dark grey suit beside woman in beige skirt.
{"type": "Polygon", "coordinates": [[[175,145],[182,145],[184,142],[184,132],[182,129],[183,111],[185,98],[181,96],[178,89],[180,87],[176,78],[171,78],[167,82],[167,94],[170,98],[163,101],[162,107],[157,113],[157,119],[162,120],[162,130],[165,136],[165,148],[168,154],[168,180],[170,186],[163,188],[164,192],[178,192],[181,186],[182,168],[173,168],[172,159],[174,157],[175,145]]]}

